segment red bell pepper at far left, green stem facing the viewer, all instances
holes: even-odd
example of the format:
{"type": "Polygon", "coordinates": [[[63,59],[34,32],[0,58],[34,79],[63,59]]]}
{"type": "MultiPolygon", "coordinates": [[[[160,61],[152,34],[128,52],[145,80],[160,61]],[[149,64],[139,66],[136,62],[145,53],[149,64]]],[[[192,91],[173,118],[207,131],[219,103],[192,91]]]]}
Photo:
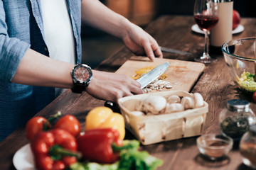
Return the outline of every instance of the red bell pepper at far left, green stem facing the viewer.
{"type": "Polygon", "coordinates": [[[31,150],[37,169],[65,169],[80,157],[75,137],[60,129],[40,132],[32,140],[31,150]]]}

